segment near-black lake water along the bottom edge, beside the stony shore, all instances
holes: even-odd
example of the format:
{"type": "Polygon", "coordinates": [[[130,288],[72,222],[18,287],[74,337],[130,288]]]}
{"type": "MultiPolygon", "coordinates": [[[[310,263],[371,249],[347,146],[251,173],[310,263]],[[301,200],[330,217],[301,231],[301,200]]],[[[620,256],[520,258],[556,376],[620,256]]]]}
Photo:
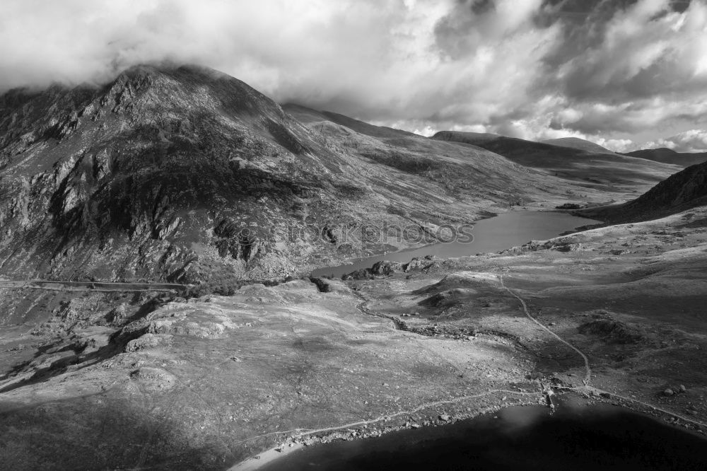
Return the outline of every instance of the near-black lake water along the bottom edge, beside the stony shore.
{"type": "Polygon", "coordinates": [[[707,470],[707,440],[618,407],[561,406],[552,416],[545,407],[510,407],[304,448],[262,470],[707,470]]]}

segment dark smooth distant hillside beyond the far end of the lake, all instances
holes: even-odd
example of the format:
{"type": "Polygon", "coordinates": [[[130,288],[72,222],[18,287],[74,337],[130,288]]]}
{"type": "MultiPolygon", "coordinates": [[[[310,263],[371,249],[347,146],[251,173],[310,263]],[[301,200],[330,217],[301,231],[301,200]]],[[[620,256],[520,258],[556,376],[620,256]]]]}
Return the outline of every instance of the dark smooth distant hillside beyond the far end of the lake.
{"type": "Polygon", "coordinates": [[[644,192],[677,173],[677,165],[645,161],[615,153],[525,141],[473,132],[438,132],[432,139],[471,144],[501,154],[520,165],[542,170],[580,184],[599,185],[611,194],[618,189],[644,192]]]}

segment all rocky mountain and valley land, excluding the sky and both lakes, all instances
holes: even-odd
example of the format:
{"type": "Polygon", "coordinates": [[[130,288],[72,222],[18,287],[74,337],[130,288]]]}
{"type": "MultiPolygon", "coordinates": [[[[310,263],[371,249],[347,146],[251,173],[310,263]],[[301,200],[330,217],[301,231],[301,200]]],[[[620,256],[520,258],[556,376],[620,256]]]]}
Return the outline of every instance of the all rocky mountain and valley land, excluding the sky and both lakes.
{"type": "Polygon", "coordinates": [[[0,110],[3,467],[248,469],[552,394],[707,429],[704,165],[426,139],[194,67],[0,110]],[[563,204],[614,225],[305,276],[407,246],[344,228],[563,204]]]}

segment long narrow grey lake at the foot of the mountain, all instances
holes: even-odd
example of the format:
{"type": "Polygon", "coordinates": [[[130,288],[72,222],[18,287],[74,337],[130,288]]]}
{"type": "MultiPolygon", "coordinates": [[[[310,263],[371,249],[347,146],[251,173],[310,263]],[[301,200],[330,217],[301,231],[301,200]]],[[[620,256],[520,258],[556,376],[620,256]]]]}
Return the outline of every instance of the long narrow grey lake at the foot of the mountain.
{"type": "Polygon", "coordinates": [[[442,258],[464,257],[479,252],[498,252],[530,240],[545,240],[559,236],[579,226],[599,223],[593,219],[572,216],[567,213],[550,211],[510,211],[490,219],[474,223],[471,233],[473,241],[468,243],[455,240],[451,243],[438,243],[414,250],[401,250],[385,255],[363,257],[352,260],[349,264],[327,267],[312,271],[312,277],[334,275],[341,277],[362,268],[370,268],[375,262],[390,260],[409,262],[413,257],[436,255],[442,258]]]}

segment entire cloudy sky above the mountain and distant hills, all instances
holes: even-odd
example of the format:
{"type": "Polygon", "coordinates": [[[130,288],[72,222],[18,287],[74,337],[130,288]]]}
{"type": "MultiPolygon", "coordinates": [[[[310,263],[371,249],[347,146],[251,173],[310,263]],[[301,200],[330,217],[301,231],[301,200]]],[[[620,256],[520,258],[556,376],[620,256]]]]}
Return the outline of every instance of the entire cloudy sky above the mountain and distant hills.
{"type": "Polygon", "coordinates": [[[707,0],[0,2],[0,91],[165,59],[420,134],[707,151],[707,0]]]}

